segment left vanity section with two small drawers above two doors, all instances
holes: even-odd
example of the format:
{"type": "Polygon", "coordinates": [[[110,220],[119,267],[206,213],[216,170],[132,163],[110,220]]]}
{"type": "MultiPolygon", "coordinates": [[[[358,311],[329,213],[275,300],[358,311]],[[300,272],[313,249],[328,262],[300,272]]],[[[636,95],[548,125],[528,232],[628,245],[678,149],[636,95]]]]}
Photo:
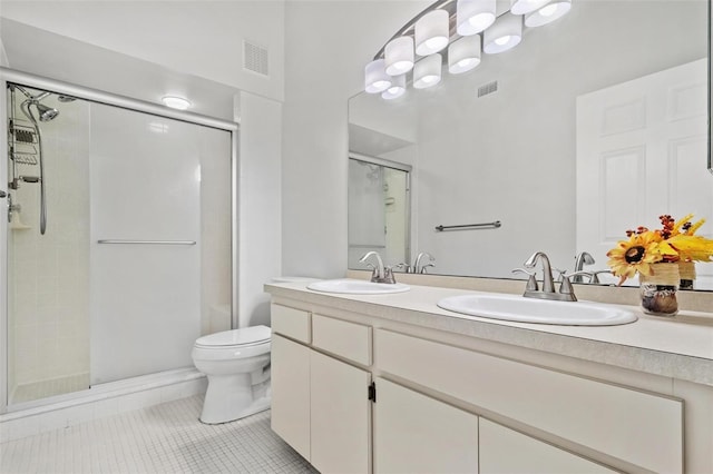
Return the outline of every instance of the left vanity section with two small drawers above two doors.
{"type": "Polygon", "coordinates": [[[370,472],[371,327],[272,305],[272,429],[322,473],[370,472]]]}

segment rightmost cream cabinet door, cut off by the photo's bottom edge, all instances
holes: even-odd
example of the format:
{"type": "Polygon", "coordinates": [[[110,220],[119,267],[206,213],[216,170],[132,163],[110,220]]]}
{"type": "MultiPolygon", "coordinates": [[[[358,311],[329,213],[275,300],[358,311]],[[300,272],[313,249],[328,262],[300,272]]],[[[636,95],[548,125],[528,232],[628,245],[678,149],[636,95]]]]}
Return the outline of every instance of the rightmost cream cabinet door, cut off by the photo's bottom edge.
{"type": "Polygon", "coordinates": [[[481,474],[615,472],[534,437],[480,418],[481,474]]]}

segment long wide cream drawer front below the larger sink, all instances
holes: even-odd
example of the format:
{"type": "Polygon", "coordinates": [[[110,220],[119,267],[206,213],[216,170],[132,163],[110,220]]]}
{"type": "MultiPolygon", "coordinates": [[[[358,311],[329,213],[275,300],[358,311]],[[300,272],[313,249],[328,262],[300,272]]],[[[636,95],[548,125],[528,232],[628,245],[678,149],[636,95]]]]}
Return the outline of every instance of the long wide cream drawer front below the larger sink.
{"type": "Polygon", "coordinates": [[[377,329],[380,371],[654,472],[683,471],[683,402],[377,329]]]}

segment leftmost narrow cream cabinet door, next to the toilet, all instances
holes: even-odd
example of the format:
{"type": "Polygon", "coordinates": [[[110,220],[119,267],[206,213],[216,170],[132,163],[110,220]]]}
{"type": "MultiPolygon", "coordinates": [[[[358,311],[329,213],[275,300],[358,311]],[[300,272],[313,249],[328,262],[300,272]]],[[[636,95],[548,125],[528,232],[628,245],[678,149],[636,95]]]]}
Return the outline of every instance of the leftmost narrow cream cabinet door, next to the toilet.
{"type": "Polygon", "coordinates": [[[309,461],[310,349],[273,334],[271,357],[271,427],[309,461]]]}

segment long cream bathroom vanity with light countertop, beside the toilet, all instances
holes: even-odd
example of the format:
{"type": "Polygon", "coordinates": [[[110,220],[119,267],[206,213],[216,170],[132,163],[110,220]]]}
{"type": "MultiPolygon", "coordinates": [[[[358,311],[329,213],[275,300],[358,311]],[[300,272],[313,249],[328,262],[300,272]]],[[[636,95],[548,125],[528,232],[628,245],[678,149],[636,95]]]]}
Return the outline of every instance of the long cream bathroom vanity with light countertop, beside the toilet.
{"type": "Polygon", "coordinates": [[[272,295],[272,428],[322,473],[713,472],[713,314],[556,326],[462,289],[272,295]]]}

